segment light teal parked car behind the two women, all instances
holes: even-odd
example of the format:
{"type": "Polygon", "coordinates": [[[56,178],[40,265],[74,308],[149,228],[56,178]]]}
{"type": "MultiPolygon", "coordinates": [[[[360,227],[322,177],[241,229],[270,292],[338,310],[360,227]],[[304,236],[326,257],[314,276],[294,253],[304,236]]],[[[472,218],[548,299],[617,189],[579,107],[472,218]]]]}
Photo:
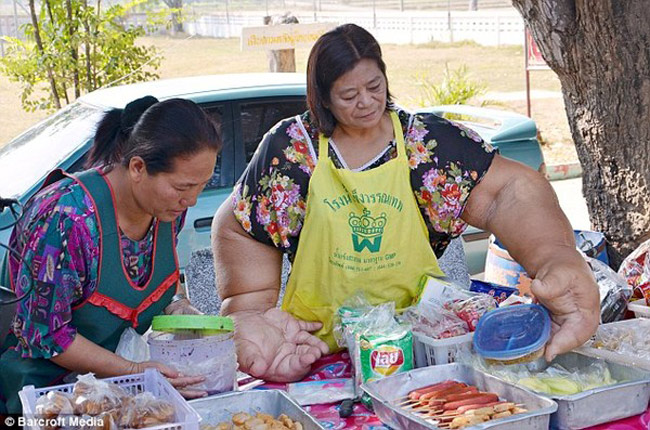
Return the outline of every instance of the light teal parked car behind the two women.
{"type": "MultiPolygon", "coordinates": [[[[214,175],[189,209],[179,236],[178,255],[185,267],[193,250],[210,246],[210,225],[219,205],[232,191],[235,181],[251,159],[264,133],[276,122],[304,112],[305,76],[292,73],[261,73],[200,76],[117,86],[93,91],[31,127],[0,148],[0,197],[25,203],[47,173],[55,168],[68,172],[83,168],[95,124],[112,108],[151,94],[159,100],[182,97],[201,105],[220,125],[224,146],[214,175]]],[[[535,169],[543,166],[535,123],[524,116],[470,106],[427,109],[438,114],[461,114],[463,118],[487,118],[498,125],[467,122],[503,155],[535,169]]],[[[0,229],[13,221],[9,210],[0,213],[0,229]]],[[[7,243],[9,229],[0,231],[7,243]]],[[[482,271],[487,234],[476,229],[464,236],[472,273],[482,271]]],[[[4,249],[0,249],[0,258],[4,249]]]]}

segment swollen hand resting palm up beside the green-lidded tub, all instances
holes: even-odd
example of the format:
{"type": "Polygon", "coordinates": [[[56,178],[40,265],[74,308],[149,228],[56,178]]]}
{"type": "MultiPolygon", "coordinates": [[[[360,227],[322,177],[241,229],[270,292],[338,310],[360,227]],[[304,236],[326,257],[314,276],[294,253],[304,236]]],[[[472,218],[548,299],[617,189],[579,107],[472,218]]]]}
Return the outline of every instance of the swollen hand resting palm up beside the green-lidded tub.
{"type": "Polygon", "coordinates": [[[320,323],[295,319],[277,309],[241,311],[235,322],[235,345],[242,371],[266,381],[300,380],[311,365],[327,354],[325,342],[310,332],[320,323]]]}

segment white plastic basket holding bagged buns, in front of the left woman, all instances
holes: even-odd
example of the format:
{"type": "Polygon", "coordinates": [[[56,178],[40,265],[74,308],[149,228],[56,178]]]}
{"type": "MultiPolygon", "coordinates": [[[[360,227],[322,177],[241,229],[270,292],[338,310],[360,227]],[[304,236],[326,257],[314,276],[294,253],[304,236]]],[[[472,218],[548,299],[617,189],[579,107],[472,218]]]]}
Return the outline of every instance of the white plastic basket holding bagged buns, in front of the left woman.
{"type": "MultiPolygon", "coordinates": [[[[156,369],[145,369],[144,373],[134,375],[116,376],[102,379],[122,387],[127,393],[135,395],[143,391],[149,391],[155,398],[166,400],[174,405],[176,411],[176,422],[162,424],[155,427],[148,427],[148,430],[199,430],[199,414],[185,401],[183,396],[160,374],[156,369]]],[[[23,387],[18,393],[23,406],[23,416],[26,423],[36,423],[34,413],[36,400],[50,391],[62,391],[71,393],[74,384],[55,385],[52,387],[35,388],[33,385],[23,387]]],[[[30,430],[40,430],[35,425],[25,426],[30,430]]]]}

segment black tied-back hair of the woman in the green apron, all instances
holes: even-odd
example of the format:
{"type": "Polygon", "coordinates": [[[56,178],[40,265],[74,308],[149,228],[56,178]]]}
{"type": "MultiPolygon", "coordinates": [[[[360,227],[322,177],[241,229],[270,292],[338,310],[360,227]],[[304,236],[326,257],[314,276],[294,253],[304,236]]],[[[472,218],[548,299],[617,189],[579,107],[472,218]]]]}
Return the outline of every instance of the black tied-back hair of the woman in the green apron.
{"type": "Polygon", "coordinates": [[[203,149],[219,151],[221,137],[216,125],[196,103],[185,99],[158,102],[146,96],[112,109],[95,132],[86,167],[121,164],[141,157],[147,173],[171,172],[174,159],[203,149]]]}

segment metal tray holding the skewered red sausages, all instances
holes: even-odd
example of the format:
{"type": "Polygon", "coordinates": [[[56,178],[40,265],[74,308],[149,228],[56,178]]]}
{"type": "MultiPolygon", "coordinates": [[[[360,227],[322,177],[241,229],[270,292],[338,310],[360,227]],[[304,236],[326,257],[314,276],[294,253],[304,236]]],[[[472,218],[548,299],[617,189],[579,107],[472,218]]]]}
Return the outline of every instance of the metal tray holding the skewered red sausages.
{"type": "Polygon", "coordinates": [[[502,381],[465,364],[452,363],[422,367],[406,373],[389,376],[362,385],[372,399],[375,413],[386,425],[396,430],[424,430],[439,428],[394,403],[409,392],[446,379],[476,385],[481,391],[495,392],[503,399],[522,404],[527,413],[487,421],[467,429],[522,430],[547,429],[550,415],[557,410],[554,401],[524,388],[502,381]]]}

